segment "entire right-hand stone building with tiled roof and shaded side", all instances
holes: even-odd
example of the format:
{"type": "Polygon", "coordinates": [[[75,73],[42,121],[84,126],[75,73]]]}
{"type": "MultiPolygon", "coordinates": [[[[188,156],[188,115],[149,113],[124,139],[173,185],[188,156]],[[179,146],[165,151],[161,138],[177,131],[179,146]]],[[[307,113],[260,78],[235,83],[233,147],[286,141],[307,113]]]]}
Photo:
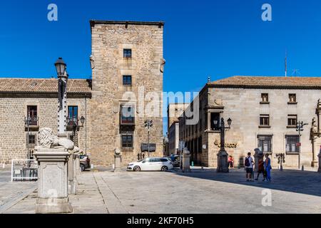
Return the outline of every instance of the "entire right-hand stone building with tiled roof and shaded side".
{"type": "Polygon", "coordinates": [[[185,125],[186,117],[180,118],[180,140],[186,142],[194,162],[217,166],[218,125],[221,118],[225,124],[231,118],[225,149],[236,166],[242,166],[247,152],[254,153],[255,148],[270,154],[273,167],[279,153],[285,154],[285,167],[317,166],[321,78],[235,76],[207,83],[198,98],[198,124],[185,125]],[[296,126],[301,121],[307,125],[299,138],[296,126]]]}

